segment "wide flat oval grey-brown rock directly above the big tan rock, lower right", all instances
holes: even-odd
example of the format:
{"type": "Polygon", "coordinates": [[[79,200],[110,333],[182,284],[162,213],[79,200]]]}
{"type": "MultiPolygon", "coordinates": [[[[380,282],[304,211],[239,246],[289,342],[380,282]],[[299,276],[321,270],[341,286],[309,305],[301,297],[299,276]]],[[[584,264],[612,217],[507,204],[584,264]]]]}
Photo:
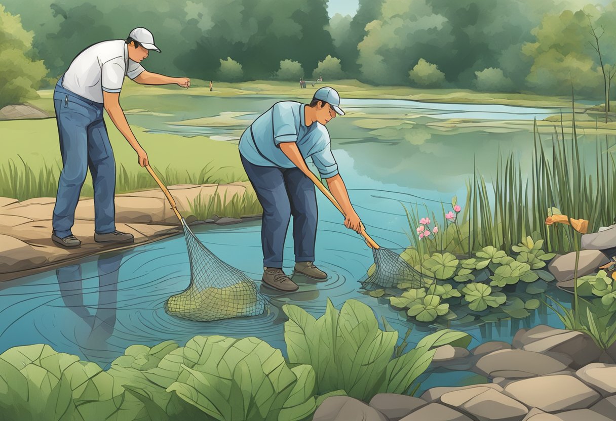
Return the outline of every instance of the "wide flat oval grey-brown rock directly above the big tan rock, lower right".
{"type": "Polygon", "coordinates": [[[536,352],[501,350],[482,356],[474,368],[486,377],[524,378],[562,371],[567,366],[536,352]]]}

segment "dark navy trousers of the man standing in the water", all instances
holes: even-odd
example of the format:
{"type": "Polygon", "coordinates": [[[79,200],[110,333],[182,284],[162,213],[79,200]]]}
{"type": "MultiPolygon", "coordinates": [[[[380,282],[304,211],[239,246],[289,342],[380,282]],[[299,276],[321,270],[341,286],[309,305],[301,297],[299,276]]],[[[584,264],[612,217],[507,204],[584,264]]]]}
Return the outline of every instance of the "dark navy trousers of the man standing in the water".
{"type": "Polygon", "coordinates": [[[299,168],[261,167],[241,156],[241,163],[263,207],[263,265],[282,268],[286,230],[293,215],[296,262],[314,262],[317,197],[314,183],[299,168]]]}

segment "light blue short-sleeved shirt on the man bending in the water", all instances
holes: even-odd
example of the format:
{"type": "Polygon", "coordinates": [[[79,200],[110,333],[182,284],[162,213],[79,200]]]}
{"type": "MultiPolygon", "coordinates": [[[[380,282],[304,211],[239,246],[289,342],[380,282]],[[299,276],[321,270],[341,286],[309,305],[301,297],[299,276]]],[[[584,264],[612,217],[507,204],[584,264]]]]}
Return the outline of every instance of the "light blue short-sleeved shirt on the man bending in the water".
{"type": "Polygon", "coordinates": [[[338,174],[330,133],[317,121],[306,127],[305,106],[295,101],[275,103],[241,135],[241,156],[261,167],[293,168],[295,164],[280,150],[280,143],[296,142],[304,159],[312,158],[322,178],[338,174]]]}

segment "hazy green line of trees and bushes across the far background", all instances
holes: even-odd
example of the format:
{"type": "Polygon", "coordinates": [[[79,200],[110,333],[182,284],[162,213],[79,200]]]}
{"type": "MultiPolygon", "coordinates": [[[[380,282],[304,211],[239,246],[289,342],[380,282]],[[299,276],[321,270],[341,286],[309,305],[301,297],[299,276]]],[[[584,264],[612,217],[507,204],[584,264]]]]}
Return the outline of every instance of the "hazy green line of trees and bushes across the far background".
{"type": "Polygon", "coordinates": [[[553,95],[573,81],[578,94],[602,95],[616,74],[616,1],[585,2],[360,0],[354,16],[330,18],[327,0],[0,0],[0,94],[35,89],[84,47],[145,26],[163,51],[148,68],[198,79],[553,95]]]}

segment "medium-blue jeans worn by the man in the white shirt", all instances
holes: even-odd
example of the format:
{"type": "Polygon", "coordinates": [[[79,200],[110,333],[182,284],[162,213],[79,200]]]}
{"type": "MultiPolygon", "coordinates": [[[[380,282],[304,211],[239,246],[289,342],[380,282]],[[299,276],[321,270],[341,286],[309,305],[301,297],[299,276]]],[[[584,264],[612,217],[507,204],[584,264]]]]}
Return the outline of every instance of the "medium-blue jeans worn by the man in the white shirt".
{"type": "Polygon", "coordinates": [[[60,238],[71,235],[88,168],[94,186],[94,230],[111,233],[115,231],[115,160],[103,105],[64,89],[60,78],[54,90],[54,108],[63,165],[52,220],[54,234],[60,238]]]}

